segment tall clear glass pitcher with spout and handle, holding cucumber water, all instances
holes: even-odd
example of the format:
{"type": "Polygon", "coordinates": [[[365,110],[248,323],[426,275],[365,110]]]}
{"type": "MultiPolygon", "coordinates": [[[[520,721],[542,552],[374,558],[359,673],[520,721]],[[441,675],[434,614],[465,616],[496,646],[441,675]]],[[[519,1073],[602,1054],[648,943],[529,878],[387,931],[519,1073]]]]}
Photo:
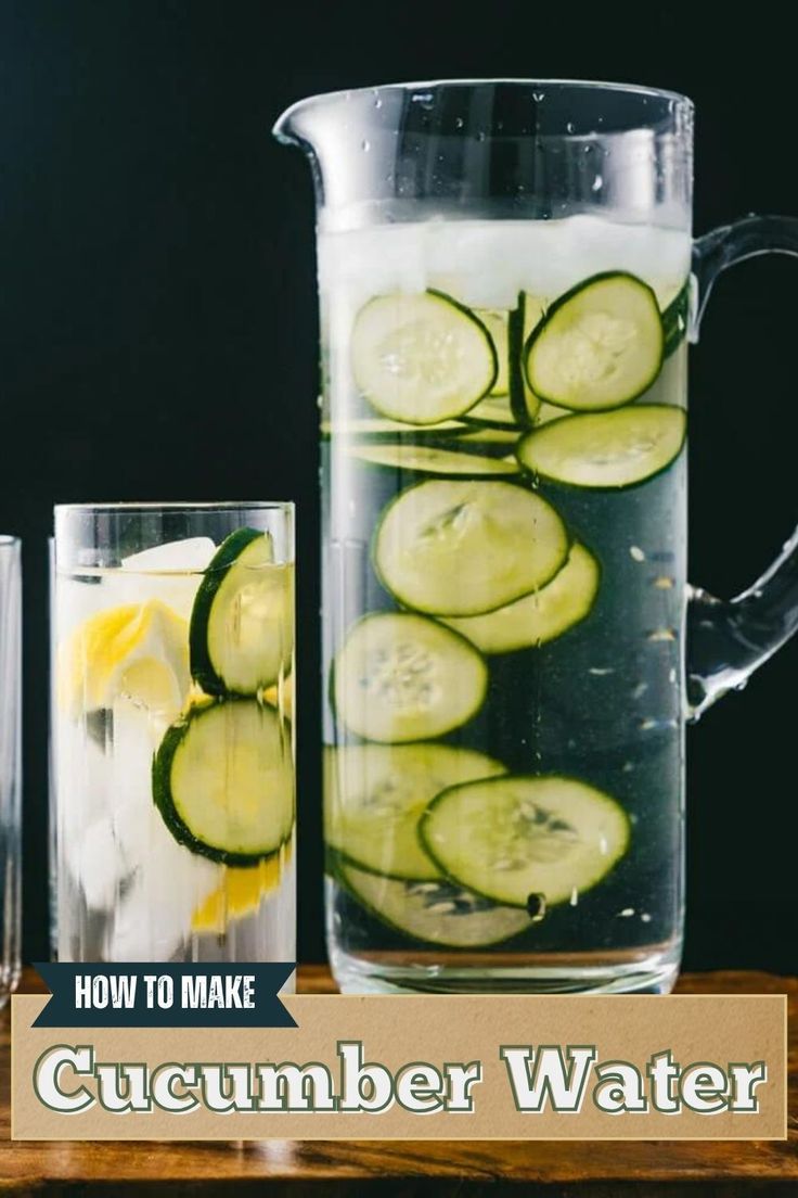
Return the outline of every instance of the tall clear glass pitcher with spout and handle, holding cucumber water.
{"type": "Polygon", "coordinates": [[[693,242],[693,105],[645,87],[346,91],[275,134],[318,205],[336,980],[666,992],[686,720],[798,619],[794,541],[687,586],[687,340],[798,222],[693,242]]]}

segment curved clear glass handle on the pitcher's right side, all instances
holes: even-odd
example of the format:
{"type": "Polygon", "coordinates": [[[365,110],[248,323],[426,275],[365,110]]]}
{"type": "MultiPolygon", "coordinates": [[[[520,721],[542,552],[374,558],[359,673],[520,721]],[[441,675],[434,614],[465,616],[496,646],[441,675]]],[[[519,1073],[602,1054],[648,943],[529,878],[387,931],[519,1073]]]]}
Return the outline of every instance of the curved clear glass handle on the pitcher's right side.
{"type": "MultiPolygon", "coordinates": [[[[699,237],[693,253],[698,301],[690,340],[695,341],[721,271],[757,254],[798,258],[798,218],[745,217],[699,237]]],[[[733,599],[717,599],[696,587],[688,594],[687,702],[688,718],[696,720],[798,629],[798,528],[765,574],[733,599]]]]}

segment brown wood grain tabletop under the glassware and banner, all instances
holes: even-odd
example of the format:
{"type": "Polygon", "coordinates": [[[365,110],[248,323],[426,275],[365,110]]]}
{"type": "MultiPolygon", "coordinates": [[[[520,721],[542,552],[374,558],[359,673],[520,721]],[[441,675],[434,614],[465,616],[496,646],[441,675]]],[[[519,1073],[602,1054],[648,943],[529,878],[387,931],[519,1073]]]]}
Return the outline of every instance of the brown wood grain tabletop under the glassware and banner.
{"type": "MultiPolygon", "coordinates": [[[[35,992],[43,987],[26,973],[20,988],[35,992]]],[[[299,990],[331,993],[329,973],[319,966],[300,969],[299,990]]],[[[91,1198],[355,1198],[372,1193],[471,1198],[507,1188],[525,1198],[770,1193],[798,1198],[798,979],[759,973],[688,974],[680,980],[677,992],[788,996],[787,1140],[12,1143],[5,1011],[0,1017],[0,1192],[91,1198]]]]}

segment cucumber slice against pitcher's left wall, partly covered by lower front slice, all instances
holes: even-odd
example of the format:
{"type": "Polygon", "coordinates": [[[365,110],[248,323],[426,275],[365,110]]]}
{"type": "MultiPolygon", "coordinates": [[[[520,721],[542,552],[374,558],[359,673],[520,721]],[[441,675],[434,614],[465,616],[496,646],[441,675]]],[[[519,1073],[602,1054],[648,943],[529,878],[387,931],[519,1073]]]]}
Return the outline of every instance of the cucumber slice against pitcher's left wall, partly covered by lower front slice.
{"type": "Polygon", "coordinates": [[[324,837],[359,869],[425,881],[439,870],[419,843],[419,819],[439,791],[506,773],[452,745],[345,745],[324,750],[324,837]]]}

